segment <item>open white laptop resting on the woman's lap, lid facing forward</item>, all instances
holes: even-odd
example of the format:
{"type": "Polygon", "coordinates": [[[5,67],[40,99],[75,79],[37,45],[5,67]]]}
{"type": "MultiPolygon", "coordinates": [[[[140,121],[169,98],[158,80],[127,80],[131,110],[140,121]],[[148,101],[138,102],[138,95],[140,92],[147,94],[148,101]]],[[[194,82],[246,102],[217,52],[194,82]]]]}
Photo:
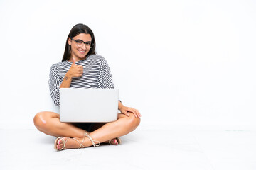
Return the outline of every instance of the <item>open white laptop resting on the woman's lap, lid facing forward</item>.
{"type": "Polygon", "coordinates": [[[117,120],[119,89],[60,88],[60,122],[117,120]]]}

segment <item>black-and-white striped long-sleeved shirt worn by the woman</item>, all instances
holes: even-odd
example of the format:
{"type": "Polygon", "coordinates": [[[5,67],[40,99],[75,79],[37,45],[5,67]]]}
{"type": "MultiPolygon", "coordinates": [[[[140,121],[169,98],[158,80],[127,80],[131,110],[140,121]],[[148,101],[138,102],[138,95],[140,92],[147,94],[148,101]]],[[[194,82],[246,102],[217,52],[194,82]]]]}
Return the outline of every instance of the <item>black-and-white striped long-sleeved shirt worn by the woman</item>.
{"type": "MultiPolygon", "coordinates": [[[[114,84],[110,73],[110,67],[104,57],[100,55],[87,56],[85,60],[75,62],[83,66],[81,77],[73,77],[70,87],[73,88],[97,88],[113,89],[114,84]]],[[[68,72],[72,62],[63,61],[50,67],[50,96],[56,106],[60,106],[60,84],[68,72]]]]}

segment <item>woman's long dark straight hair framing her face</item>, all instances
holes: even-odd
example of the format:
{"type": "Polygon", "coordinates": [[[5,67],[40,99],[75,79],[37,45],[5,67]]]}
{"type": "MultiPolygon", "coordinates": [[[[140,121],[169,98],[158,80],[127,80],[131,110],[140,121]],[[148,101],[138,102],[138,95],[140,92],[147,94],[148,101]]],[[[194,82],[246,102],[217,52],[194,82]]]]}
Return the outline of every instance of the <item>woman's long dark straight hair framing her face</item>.
{"type": "MultiPolygon", "coordinates": [[[[78,23],[77,25],[73,26],[73,28],[70,30],[70,33],[68,34],[68,38],[73,38],[80,33],[90,34],[91,38],[92,38],[92,47],[90,48],[90,50],[86,56],[95,55],[96,54],[96,52],[95,52],[95,47],[96,47],[95,37],[92,33],[92,30],[85,24],[78,23]]],[[[70,60],[70,57],[71,57],[71,47],[68,44],[68,38],[66,40],[65,51],[64,51],[62,61],[70,60]]]]}

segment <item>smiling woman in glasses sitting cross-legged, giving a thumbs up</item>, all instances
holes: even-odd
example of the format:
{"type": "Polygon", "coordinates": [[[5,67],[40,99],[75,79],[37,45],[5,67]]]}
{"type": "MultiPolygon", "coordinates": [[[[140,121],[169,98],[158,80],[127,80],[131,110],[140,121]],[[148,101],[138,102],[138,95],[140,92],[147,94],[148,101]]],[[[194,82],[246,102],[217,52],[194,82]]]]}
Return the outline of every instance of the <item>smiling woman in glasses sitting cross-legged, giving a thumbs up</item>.
{"type": "MultiPolygon", "coordinates": [[[[50,96],[59,106],[60,88],[114,88],[110,68],[104,57],[95,53],[95,37],[83,24],[75,25],[68,35],[62,62],[50,68],[50,96]]],[[[117,120],[111,123],[61,123],[60,115],[40,112],[34,117],[36,128],[58,137],[55,149],[98,146],[102,142],[121,143],[120,136],[137,128],[141,114],[137,109],[118,103],[117,120]]]]}

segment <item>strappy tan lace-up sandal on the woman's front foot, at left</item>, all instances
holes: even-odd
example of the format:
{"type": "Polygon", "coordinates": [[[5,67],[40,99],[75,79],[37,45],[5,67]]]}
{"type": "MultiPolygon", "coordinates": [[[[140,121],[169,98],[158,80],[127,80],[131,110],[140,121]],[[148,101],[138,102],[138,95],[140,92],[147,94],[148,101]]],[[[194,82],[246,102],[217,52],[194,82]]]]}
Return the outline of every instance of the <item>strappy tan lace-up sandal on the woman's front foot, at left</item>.
{"type": "Polygon", "coordinates": [[[64,140],[63,137],[58,137],[58,138],[55,140],[55,142],[54,142],[54,149],[59,150],[59,151],[61,151],[61,150],[63,150],[63,149],[68,149],[68,148],[65,147],[65,144],[66,144],[66,142],[68,141],[68,139],[73,139],[73,140],[75,140],[76,142],[78,142],[78,143],[80,144],[80,146],[78,147],[78,149],[80,149],[81,147],[85,147],[84,145],[82,145],[82,143],[85,141],[85,137],[88,137],[88,138],[89,138],[89,140],[92,142],[93,147],[98,147],[98,146],[100,146],[100,141],[92,140],[92,137],[90,137],[90,136],[85,132],[85,135],[84,135],[84,137],[83,137],[83,139],[82,139],[82,142],[79,142],[77,139],[75,139],[75,137],[74,137],[74,138],[67,137],[66,140],[64,140]],[[62,140],[62,141],[63,141],[63,147],[60,148],[60,149],[57,148],[58,140],[62,140]],[[98,142],[98,143],[95,144],[95,142],[98,142]]]}

